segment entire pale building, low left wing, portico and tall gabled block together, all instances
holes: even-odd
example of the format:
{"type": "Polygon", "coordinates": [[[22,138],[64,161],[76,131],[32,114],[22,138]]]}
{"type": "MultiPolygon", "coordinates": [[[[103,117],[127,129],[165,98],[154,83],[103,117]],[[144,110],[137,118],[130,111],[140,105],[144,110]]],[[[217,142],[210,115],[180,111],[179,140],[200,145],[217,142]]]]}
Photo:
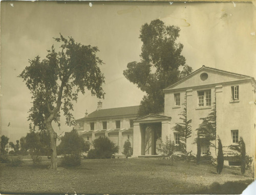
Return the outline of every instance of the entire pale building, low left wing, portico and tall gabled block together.
{"type": "MultiPolygon", "coordinates": [[[[223,151],[231,154],[229,145],[238,145],[242,136],[246,152],[255,156],[255,95],[254,78],[202,66],[189,76],[165,88],[164,112],[138,117],[138,106],[98,109],[88,116],[76,120],[76,129],[92,142],[98,136],[108,136],[123,150],[124,141],[133,145],[133,156],[158,155],[159,141],[169,137],[176,144],[180,142],[176,124],[181,123],[180,113],[186,101],[187,118],[191,119],[191,137],[187,139],[187,151],[197,153],[195,138],[197,129],[214,105],[216,106],[216,134],[221,139],[223,151]]],[[[216,156],[215,148],[202,145],[201,154],[210,150],[216,156]]]]}

